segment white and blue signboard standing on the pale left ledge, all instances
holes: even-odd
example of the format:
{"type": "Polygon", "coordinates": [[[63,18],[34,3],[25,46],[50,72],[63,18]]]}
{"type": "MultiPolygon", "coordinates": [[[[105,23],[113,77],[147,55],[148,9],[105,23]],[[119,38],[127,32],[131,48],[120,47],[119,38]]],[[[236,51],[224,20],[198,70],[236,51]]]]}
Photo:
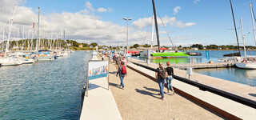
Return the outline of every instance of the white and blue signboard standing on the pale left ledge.
{"type": "Polygon", "coordinates": [[[88,65],[88,80],[107,77],[109,74],[108,61],[90,61],[88,65]]]}

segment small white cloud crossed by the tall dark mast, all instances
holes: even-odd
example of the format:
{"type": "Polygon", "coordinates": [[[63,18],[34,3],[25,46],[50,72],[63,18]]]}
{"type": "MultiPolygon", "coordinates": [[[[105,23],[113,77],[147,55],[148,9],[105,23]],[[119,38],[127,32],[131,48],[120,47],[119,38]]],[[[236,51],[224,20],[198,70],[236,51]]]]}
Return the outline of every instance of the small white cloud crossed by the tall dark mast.
{"type": "MultiPolygon", "coordinates": [[[[146,26],[151,26],[152,25],[152,18],[139,18],[138,20],[133,22],[133,25],[138,28],[138,29],[142,29],[146,26]]],[[[179,28],[185,28],[187,26],[194,26],[196,25],[195,22],[181,22],[178,21],[177,18],[175,17],[169,17],[169,16],[165,16],[164,18],[158,18],[158,25],[159,26],[176,26],[179,28]]]]}

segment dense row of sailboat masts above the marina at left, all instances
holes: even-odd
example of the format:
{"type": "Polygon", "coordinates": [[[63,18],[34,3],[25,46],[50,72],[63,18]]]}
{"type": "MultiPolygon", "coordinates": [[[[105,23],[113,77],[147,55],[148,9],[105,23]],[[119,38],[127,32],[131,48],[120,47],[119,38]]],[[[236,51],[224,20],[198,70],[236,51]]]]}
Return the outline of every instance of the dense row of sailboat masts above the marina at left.
{"type": "MultiPolygon", "coordinates": [[[[50,32],[50,37],[46,38],[46,32],[43,31],[43,37],[41,37],[40,34],[40,8],[38,7],[38,23],[37,23],[37,29],[34,29],[34,23],[32,29],[25,30],[25,27],[22,26],[22,35],[21,35],[21,30],[17,30],[17,35],[15,38],[15,33],[13,30],[13,22],[14,22],[14,14],[16,10],[16,6],[14,6],[14,10],[12,13],[12,17],[8,21],[8,30],[6,30],[6,26],[2,27],[2,41],[0,42],[2,46],[2,51],[5,51],[5,54],[9,52],[9,50],[14,50],[14,45],[10,47],[10,43],[16,43],[16,48],[19,47],[18,50],[30,50],[30,51],[37,51],[42,50],[42,49],[47,49],[47,50],[61,50],[66,47],[67,49],[67,44],[66,44],[66,38],[65,38],[65,30],[59,32],[59,33],[52,33],[50,32]],[[36,37],[35,31],[37,31],[37,39],[35,40],[34,38],[36,37]],[[7,33],[7,35],[6,35],[7,33]],[[11,35],[13,34],[13,35],[11,35]],[[7,36],[7,37],[6,37],[7,36]],[[12,38],[11,38],[12,37],[12,38]],[[34,40],[36,41],[34,43],[34,40]],[[21,42],[22,43],[19,43],[21,42]],[[22,44],[22,45],[20,45],[22,44]],[[19,45],[19,46],[18,46],[19,45]]],[[[21,28],[21,27],[20,27],[21,28]]],[[[43,28],[44,29],[44,28],[43,28]]]]}

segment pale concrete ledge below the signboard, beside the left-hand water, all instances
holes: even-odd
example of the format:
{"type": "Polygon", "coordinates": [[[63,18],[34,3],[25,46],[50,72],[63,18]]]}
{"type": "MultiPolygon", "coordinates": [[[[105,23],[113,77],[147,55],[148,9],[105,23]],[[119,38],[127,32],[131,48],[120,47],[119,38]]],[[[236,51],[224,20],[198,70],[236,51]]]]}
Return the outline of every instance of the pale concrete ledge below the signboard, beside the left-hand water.
{"type": "Polygon", "coordinates": [[[107,89],[107,78],[90,81],[80,120],[122,120],[113,94],[107,89]]]}

